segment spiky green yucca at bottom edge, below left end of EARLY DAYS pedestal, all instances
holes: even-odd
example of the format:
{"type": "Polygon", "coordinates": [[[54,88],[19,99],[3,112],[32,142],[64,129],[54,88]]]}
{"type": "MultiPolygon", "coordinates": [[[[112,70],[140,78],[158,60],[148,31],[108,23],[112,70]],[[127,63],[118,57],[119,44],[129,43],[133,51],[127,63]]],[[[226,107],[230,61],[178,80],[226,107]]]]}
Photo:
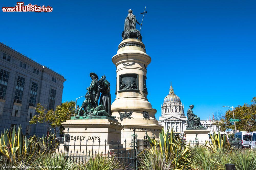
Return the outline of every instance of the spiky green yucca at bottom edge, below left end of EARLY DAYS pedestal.
{"type": "Polygon", "coordinates": [[[44,154],[35,160],[34,167],[41,170],[74,170],[78,169],[76,162],[67,159],[64,155],[44,154]]]}

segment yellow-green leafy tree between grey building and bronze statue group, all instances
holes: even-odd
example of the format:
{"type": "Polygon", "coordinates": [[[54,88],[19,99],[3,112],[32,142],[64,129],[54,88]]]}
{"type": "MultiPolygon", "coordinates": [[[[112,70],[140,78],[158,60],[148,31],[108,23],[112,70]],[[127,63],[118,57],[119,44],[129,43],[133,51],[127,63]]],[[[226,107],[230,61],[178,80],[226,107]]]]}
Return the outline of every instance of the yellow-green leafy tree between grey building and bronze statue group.
{"type": "Polygon", "coordinates": [[[36,106],[36,114],[29,121],[30,124],[36,123],[47,123],[54,128],[54,132],[56,133],[56,127],[60,127],[60,132],[63,130],[62,122],[69,120],[70,117],[74,114],[75,110],[75,102],[74,101],[66,101],[61,105],[58,105],[53,111],[52,109],[48,110],[40,103],[37,103],[36,106]]]}

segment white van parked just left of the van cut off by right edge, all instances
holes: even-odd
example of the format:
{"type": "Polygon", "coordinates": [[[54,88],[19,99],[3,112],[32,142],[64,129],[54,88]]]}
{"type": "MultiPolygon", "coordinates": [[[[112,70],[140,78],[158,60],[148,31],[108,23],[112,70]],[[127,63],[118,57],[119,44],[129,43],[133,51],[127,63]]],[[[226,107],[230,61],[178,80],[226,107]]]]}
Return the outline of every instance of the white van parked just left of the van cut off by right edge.
{"type": "Polygon", "coordinates": [[[252,133],[241,131],[235,134],[235,140],[239,140],[242,148],[251,148],[252,133]]]}

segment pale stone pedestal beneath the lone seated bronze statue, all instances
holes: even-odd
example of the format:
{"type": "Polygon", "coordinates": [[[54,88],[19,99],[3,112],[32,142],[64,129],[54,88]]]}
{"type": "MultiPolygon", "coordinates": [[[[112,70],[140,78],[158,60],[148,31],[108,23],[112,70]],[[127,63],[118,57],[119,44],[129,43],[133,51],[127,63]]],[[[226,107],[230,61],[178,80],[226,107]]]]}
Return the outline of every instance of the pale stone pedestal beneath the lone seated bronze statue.
{"type": "Polygon", "coordinates": [[[209,132],[207,129],[184,130],[186,141],[191,143],[198,141],[198,144],[205,144],[206,141],[209,141],[209,132]]]}

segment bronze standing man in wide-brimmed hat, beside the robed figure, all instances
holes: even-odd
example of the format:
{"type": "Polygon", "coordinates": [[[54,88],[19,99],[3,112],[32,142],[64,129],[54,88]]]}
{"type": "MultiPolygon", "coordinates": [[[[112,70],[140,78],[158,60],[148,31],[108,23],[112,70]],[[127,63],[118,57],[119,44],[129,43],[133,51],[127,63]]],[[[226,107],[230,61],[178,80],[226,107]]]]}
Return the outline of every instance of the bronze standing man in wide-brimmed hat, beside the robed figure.
{"type": "Polygon", "coordinates": [[[86,94],[90,94],[91,101],[92,101],[92,107],[96,108],[98,106],[98,102],[95,101],[96,94],[98,93],[98,86],[99,86],[99,77],[95,73],[90,73],[90,77],[92,79],[91,84],[86,89],[88,90],[86,94]]]}

